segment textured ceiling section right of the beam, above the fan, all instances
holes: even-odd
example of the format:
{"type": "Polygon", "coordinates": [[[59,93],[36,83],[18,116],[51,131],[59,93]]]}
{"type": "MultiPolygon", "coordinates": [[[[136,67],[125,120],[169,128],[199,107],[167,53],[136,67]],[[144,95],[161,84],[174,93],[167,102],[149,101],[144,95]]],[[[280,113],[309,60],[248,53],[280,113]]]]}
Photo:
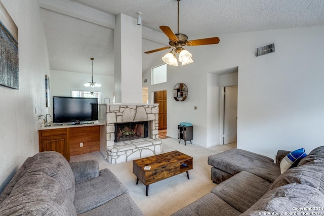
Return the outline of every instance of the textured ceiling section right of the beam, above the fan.
{"type": "MultiPolygon", "coordinates": [[[[73,0],[112,15],[137,17],[143,26],[159,30],[167,25],[177,30],[176,0],[73,0]]],[[[322,0],[182,0],[180,33],[196,39],[203,35],[324,24],[322,0]]]]}

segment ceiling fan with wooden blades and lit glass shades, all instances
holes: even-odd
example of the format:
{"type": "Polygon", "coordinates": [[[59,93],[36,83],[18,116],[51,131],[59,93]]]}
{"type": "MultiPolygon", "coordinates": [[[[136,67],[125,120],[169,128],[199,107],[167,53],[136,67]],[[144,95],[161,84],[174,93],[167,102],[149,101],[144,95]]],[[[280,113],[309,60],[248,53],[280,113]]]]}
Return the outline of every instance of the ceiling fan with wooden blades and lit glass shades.
{"type": "Polygon", "coordinates": [[[179,54],[179,62],[182,62],[182,65],[190,64],[193,62],[191,59],[192,55],[182,48],[183,46],[200,46],[200,45],[213,45],[218,44],[219,38],[218,37],[210,37],[210,38],[204,38],[204,39],[196,39],[196,40],[188,40],[188,36],[182,33],[179,33],[179,2],[178,1],[178,33],[173,33],[171,28],[169,26],[160,26],[159,28],[169,37],[169,45],[168,47],[159,48],[156,50],[146,51],[144,53],[154,53],[161,50],[167,50],[172,47],[172,51],[168,54],[166,54],[162,60],[169,64],[178,66],[178,61],[176,59],[176,53],[179,54]],[[173,53],[174,52],[174,53],[173,53]]]}

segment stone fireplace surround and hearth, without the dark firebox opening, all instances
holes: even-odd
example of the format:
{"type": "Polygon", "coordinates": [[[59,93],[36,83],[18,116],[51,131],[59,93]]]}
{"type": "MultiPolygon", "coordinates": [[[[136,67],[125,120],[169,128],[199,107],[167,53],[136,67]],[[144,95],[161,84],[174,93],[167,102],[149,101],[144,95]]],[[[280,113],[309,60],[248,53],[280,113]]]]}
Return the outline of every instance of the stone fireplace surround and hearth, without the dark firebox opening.
{"type": "MultiPolygon", "coordinates": [[[[102,109],[102,104],[99,107],[102,109]]],[[[109,163],[116,164],[160,154],[162,140],[158,138],[158,104],[105,105],[105,135],[106,145],[103,150],[109,163]],[[148,138],[115,143],[114,124],[137,121],[148,121],[148,138]]]]}

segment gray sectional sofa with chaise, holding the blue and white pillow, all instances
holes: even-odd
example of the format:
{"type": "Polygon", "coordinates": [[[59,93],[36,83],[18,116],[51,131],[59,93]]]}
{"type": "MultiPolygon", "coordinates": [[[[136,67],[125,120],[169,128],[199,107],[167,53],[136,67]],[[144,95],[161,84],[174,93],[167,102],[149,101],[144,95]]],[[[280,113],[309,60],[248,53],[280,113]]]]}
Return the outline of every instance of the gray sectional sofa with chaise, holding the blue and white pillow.
{"type": "Polygon", "coordinates": [[[211,193],[173,215],[324,215],[324,146],[280,174],[280,161],[232,149],[208,158],[211,193]]]}

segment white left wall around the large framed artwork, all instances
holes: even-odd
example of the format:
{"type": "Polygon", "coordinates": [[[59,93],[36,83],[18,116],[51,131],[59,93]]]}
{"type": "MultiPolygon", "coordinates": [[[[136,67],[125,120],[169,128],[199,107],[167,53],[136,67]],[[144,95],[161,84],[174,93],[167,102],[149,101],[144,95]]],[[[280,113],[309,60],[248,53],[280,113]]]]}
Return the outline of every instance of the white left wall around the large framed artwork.
{"type": "Polygon", "coordinates": [[[38,115],[48,112],[45,74],[50,73],[38,1],[1,2],[18,26],[19,90],[0,86],[0,193],[26,158],[39,151],[38,115]]]}

